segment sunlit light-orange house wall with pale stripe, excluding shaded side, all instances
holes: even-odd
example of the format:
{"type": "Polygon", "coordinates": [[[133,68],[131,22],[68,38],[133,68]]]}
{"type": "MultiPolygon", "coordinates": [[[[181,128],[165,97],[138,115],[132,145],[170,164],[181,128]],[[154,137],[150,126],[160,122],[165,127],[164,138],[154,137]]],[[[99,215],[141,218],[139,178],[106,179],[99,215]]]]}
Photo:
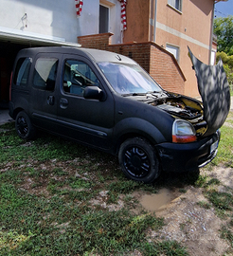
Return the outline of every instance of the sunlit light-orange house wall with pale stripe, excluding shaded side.
{"type": "Polygon", "coordinates": [[[179,64],[187,82],[185,94],[198,97],[195,73],[188,58],[188,46],[193,54],[205,64],[209,64],[209,46],[211,45],[211,27],[213,0],[186,0],[183,1],[182,12],[170,8],[167,0],[157,1],[157,22],[173,28],[176,31],[165,31],[156,28],[155,42],[159,46],[166,44],[179,46],[179,64]]]}

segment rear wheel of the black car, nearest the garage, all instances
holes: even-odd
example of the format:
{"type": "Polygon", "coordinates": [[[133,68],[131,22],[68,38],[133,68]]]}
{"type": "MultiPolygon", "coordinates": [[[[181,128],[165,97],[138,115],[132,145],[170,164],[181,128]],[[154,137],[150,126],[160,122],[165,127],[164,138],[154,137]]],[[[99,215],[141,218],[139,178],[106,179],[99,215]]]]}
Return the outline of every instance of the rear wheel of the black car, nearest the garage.
{"type": "Polygon", "coordinates": [[[17,114],[15,119],[15,129],[19,137],[24,139],[31,139],[35,137],[35,127],[32,125],[25,111],[20,111],[17,114]]]}

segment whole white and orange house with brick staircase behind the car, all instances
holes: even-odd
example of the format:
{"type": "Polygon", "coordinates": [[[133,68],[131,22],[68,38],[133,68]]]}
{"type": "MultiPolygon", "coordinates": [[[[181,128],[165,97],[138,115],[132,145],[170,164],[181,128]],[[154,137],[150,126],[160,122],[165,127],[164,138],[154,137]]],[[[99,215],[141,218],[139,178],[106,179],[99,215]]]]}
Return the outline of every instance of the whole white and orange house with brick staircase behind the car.
{"type": "Polygon", "coordinates": [[[0,0],[0,6],[0,106],[9,101],[12,64],[23,47],[95,43],[190,96],[198,92],[187,46],[210,63],[213,0],[0,0]]]}

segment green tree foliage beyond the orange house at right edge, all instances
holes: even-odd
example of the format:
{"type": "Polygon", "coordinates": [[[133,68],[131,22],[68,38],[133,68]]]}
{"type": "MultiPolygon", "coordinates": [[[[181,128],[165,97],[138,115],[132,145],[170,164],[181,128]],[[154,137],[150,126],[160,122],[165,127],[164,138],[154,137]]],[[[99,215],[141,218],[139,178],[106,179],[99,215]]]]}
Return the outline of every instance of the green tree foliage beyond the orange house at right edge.
{"type": "Polygon", "coordinates": [[[214,19],[214,33],[218,36],[218,51],[233,55],[233,16],[214,19]]]}

